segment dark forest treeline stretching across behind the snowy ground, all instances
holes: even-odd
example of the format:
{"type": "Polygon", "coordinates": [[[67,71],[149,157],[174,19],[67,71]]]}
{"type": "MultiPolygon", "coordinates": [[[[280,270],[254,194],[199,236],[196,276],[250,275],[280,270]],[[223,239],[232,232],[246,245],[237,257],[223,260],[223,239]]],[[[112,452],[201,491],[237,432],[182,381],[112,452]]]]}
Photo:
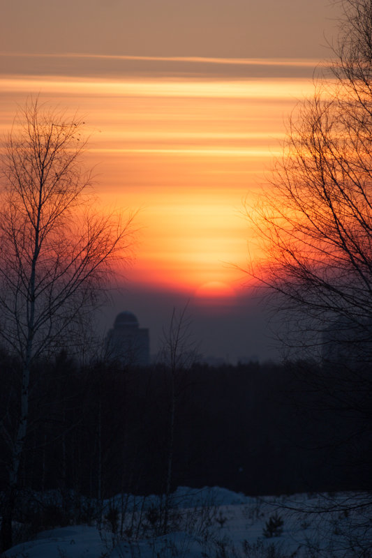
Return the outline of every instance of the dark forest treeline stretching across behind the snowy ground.
{"type": "MultiPolygon", "coordinates": [[[[18,412],[17,370],[3,352],[0,490],[18,412]]],[[[172,391],[163,365],[82,368],[61,352],[32,370],[19,488],[98,499],[161,493],[170,451],[172,488],[221,485],[251,495],[371,488],[371,406],[349,372],[309,363],[193,365],[177,372],[172,391]]]]}

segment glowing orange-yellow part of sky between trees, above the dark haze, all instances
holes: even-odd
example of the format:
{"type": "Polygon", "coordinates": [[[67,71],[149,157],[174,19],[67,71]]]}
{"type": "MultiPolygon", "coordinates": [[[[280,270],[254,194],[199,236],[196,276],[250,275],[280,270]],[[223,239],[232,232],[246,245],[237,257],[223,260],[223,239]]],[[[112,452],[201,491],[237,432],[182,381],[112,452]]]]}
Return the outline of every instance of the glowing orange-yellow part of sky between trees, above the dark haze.
{"type": "Polygon", "coordinates": [[[30,93],[87,121],[100,207],[139,210],[129,282],[234,300],[254,242],[242,201],[280,155],[285,115],[311,80],[0,75],[0,91],[0,133],[30,93]]]}

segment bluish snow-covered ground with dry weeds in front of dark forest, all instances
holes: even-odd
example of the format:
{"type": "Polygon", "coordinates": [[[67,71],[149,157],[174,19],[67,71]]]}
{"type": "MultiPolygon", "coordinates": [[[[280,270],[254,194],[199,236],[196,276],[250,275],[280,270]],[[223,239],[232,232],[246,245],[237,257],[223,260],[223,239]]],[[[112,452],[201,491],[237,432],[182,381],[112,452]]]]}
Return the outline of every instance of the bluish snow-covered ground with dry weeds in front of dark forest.
{"type": "Polygon", "coordinates": [[[119,495],[105,502],[101,525],[43,531],[5,556],[367,558],[372,556],[371,508],[370,498],[364,497],[341,493],[254,498],[224,488],[178,488],[168,502],[168,534],[164,535],[164,497],[119,495]],[[327,511],[319,513],[320,509],[327,511]],[[123,521],[121,510],[125,510],[123,521]]]}

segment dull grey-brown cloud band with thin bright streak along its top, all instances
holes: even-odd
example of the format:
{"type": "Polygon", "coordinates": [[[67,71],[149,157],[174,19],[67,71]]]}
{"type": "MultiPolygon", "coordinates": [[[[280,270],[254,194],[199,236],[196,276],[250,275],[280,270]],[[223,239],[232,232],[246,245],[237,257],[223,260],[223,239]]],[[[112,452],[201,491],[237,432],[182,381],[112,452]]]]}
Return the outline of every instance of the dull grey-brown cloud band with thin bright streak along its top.
{"type": "Polygon", "coordinates": [[[312,77],[318,61],[301,58],[227,58],[206,56],[135,56],[66,52],[0,53],[2,73],[110,77],[312,77]]]}

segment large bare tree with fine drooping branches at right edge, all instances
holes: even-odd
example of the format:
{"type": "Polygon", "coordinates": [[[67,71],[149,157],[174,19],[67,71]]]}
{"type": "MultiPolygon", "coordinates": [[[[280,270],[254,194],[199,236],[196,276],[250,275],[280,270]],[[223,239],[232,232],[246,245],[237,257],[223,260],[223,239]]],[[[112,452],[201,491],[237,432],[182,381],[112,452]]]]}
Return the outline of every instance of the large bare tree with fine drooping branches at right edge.
{"type": "MultiPolygon", "coordinates": [[[[349,442],[366,467],[372,407],[372,1],[339,4],[336,60],[325,66],[313,98],[294,112],[271,186],[255,209],[247,207],[263,252],[250,273],[269,287],[275,310],[283,312],[292,356],[305,351],[321,359],[320,374],[307,374],[306,382],[324,394],[332,414],[350,418],[349,442]]],[[[338,436],[345,444],[345,435],[338,436]]],[[[370,495],[359,503],[370,513],[370,495]]],[[[371,538],[369,529],[364,548],[371,548],[371,538]]]]}

